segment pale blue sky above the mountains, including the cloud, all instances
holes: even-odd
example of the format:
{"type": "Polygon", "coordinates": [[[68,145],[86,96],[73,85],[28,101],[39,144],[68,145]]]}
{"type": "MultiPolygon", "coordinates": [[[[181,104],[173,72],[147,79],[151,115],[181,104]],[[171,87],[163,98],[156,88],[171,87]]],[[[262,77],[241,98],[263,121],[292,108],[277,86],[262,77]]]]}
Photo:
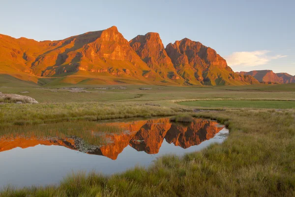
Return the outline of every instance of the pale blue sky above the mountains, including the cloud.
{"type": "Polygon", "coordinates": [[[0,33],[16,38],[58,40],[115,25],[127,40],[158,32],[165,46],[200,41],[235,71],[295,75],[295,0],[0,0],[0,7],[0,33]]]}

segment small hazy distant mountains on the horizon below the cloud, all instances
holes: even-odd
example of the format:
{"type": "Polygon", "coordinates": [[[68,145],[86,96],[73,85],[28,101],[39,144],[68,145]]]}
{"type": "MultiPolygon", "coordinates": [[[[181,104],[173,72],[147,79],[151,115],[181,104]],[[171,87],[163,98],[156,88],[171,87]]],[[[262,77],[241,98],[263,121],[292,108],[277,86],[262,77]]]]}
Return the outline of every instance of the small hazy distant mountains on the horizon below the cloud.
{"type": "Polygon", "coordinates": [[[295,83],[295,76],[288,73],[274,73],[272,70],[252,70],[249,72],[236,72],[240,75],[251,75],[261,83],[295,83]]]}

